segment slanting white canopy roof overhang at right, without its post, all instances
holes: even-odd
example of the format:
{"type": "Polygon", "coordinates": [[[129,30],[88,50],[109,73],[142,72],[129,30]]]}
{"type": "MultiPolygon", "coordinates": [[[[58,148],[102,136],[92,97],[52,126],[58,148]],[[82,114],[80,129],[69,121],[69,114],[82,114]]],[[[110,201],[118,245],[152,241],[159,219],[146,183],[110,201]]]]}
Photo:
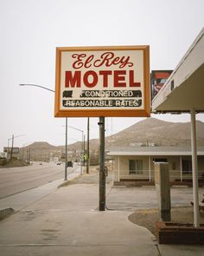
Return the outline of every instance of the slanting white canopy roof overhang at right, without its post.
{"type": "Polygon", "coordinates": [[[204,28],[152,101],[153,112],[204,112],[204,28]]]}

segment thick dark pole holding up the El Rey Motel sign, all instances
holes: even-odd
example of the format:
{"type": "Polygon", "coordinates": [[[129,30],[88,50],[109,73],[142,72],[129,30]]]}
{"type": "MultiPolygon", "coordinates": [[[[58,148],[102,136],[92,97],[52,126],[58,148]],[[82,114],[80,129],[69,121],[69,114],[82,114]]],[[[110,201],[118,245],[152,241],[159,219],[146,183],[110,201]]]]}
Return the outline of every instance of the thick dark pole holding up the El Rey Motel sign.
{"type": "Polygon", "coordinates": [[[99,117],[99,211],[105,211],[105,117],[99,117]]]}

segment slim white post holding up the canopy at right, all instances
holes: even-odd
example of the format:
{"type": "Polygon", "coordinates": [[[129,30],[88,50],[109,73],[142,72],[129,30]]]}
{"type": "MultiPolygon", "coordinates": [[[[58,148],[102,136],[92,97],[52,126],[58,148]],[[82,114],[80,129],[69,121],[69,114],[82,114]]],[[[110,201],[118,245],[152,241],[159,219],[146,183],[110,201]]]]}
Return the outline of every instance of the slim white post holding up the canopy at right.
{"type": "Polygon", "coordinates": [[[194,227],[200,226],[199,194],[198,194],[198,164],[196,147],[195,110],[190,110],[191,115],[191,149],[192,149],[192,170],[193,170],[193,194],[194,194],[194,227]]]}

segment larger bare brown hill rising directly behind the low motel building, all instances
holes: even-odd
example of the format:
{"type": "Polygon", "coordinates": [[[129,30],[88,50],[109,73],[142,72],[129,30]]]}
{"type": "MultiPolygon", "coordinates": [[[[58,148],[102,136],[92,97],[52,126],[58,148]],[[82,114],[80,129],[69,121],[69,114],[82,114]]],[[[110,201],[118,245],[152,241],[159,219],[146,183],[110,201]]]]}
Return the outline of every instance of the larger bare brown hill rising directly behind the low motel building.
{"type": "MultiPolygon", "coordinates": [[[[196,122],[197,144],[204,146],[204,123],[196,122]]],[[[106,138],[106,146],[189,146],[190,122],[169,122],[156,118],[139,121],[118,134],[106,138]]]]}

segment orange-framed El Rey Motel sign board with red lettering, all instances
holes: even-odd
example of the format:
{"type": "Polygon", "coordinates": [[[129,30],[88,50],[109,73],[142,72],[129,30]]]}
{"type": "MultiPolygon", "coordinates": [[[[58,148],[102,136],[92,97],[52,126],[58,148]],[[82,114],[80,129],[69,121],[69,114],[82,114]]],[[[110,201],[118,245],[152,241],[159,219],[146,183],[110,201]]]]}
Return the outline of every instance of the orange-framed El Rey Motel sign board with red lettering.
{"type": "Polygon", "coordinates": [[[55,116],[150,116],[149,46],[57,48],[55,116]]]}

